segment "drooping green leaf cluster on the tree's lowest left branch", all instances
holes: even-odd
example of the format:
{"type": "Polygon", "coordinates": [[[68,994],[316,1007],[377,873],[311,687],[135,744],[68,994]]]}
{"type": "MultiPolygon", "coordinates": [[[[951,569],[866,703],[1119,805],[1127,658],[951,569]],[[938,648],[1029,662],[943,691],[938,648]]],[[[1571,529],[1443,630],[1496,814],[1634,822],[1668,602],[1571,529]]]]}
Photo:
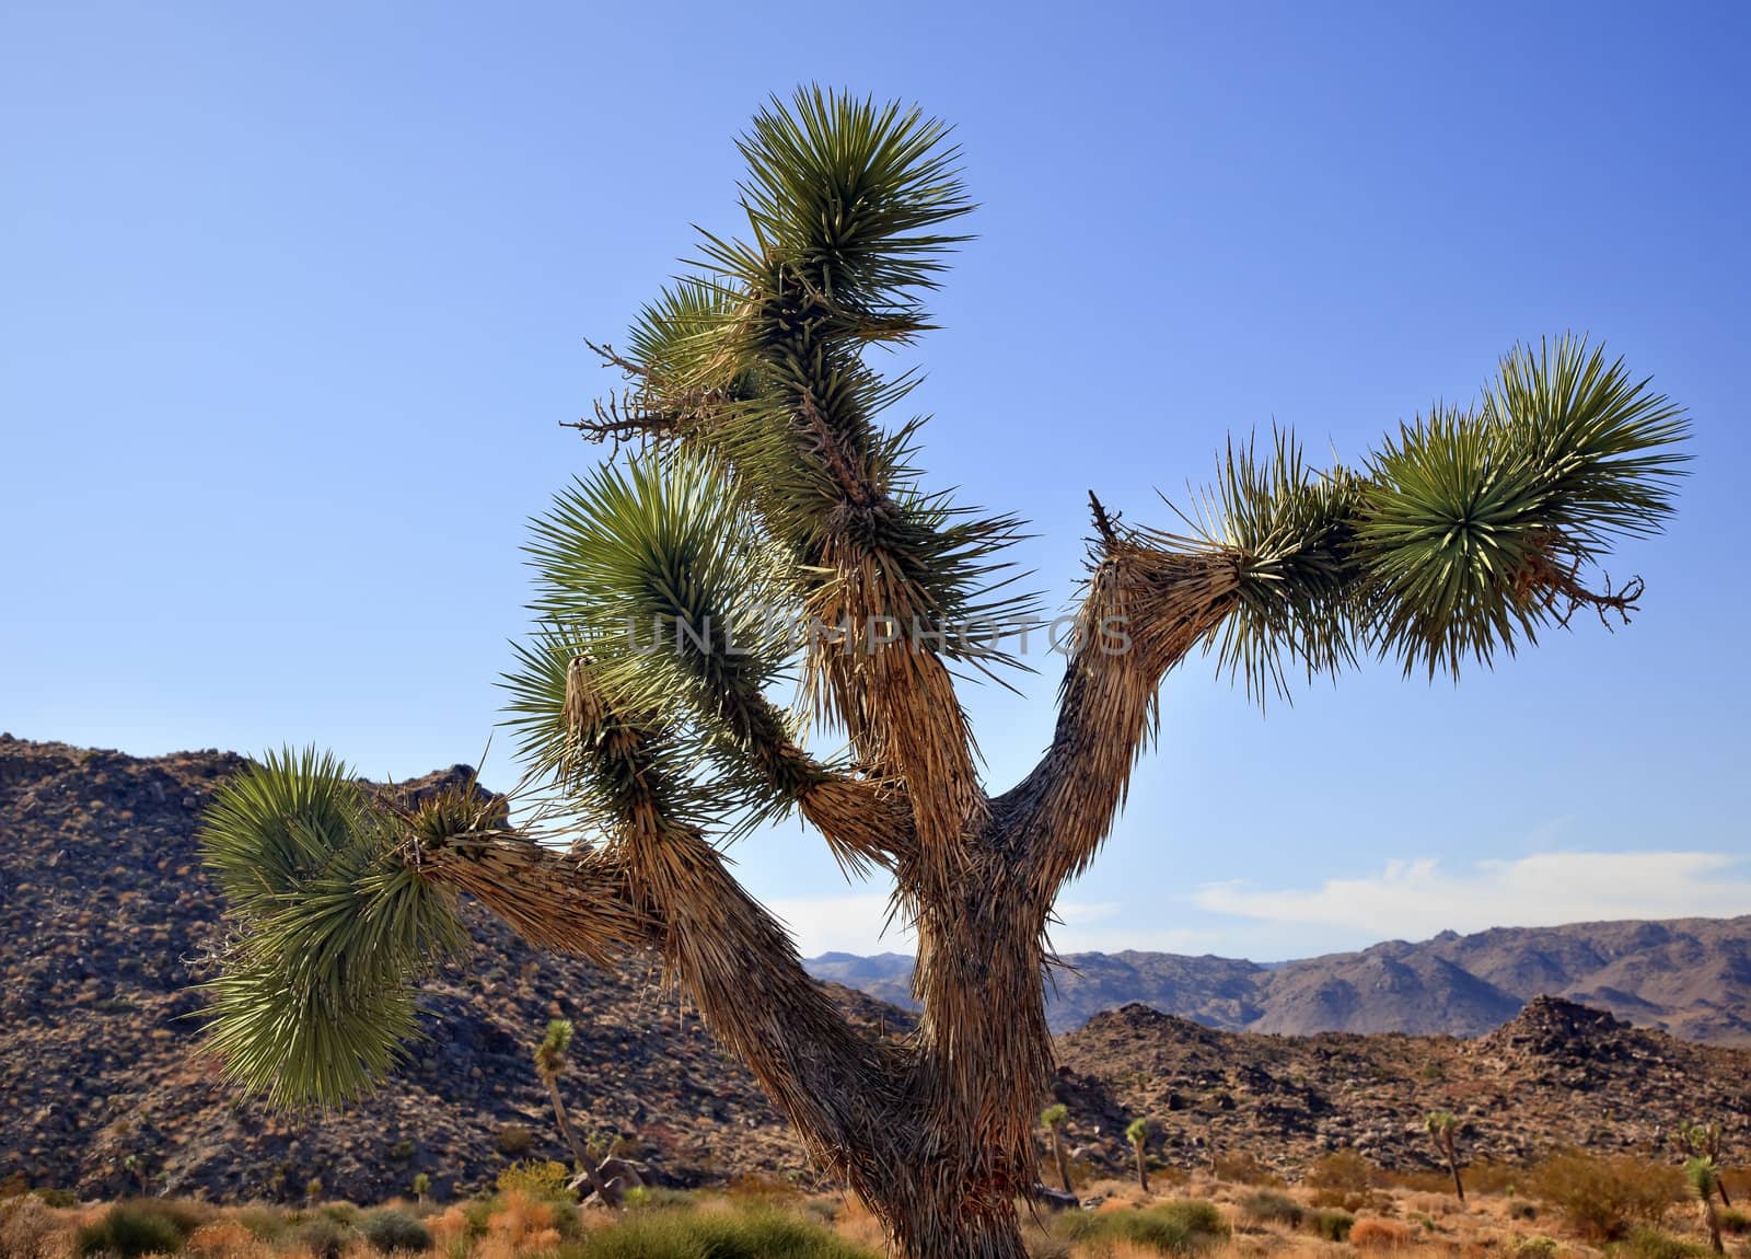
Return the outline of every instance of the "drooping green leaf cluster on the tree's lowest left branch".
{"type": "MultiPolygon", "coordinates": [[[[443,828],[443,811],[418,825],[443,828]]],[[[418,877],[403,842],[313,749],[270,753],[207,812],[201,849],[235,928],[208,984],[208,1038],[275,1105],[369,1091],[418,1033],[411,975],[466,940],[454,897],[418,877]]]]}

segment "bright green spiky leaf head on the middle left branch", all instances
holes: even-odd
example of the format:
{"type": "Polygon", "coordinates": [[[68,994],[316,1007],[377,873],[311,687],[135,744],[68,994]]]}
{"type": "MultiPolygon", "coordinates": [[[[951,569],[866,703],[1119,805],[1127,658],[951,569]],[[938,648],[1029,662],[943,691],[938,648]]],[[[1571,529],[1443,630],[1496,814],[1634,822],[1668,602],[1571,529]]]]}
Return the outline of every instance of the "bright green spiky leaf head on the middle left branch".
{"type": "MultiPolygon", "coordinates": [[[[571,662],[588,658],[602,711],[637,727],[671,783],[669,816],[721,823],[788,807],[814,770],[767,690],[788,676],[800,601],[786,559],[763,541],[728,475],[678,450],[601,468],[532,534],[532,608],[566,630],[560,650],[525,651],[513,678],[525,742],[555,765],[567,755],[578,735],[566,713],[580,685],[571,662]],[[702,765],[714,776],[702,779],[702,765]]],[[[609,825],[630,802],[587,795],[606,805],[609,825]]]]}

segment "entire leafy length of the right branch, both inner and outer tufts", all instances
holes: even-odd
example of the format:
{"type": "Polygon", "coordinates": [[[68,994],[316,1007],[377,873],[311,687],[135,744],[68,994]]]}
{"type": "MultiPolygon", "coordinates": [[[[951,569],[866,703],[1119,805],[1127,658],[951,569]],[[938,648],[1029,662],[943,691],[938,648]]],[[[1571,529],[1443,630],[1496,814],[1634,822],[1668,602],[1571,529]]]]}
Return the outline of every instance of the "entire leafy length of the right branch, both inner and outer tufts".
{"type": "Polygon", "coordinates": [[[1621,359],[1562,338],[1516,348],[1471,410],[1401,426],[1361,468],[1306,468],[1278,434],[1229,447],[1192,520],[1194,545],[1241,557],[1219,667],[1255,697],[1292,669],[1359,653],[1459,676],[1534,643],[1592,601],[1623,538],[1658,532],[1681,475],[1683,411],[1621,359]]]}

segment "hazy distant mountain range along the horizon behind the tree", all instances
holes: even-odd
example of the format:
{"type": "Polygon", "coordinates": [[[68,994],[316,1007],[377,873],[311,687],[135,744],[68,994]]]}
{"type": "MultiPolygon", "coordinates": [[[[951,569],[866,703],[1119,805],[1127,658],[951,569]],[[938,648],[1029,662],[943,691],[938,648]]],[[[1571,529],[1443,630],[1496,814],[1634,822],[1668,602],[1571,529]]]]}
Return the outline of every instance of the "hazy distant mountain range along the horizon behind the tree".
{"type": "MultiPolygon", "coordinates": [[[[1054,1031],[1138,1002],[1224,1031],[1481,1037],[1551,995],[1686,1040],[1751,1047],[1751,914],[1443,932],[1276,965],[1138,951],[1063,961],[1047,998],[1054,1031]]],[[[909,956],[826,953],[807,965],[912,1005],[909,956]]]]}

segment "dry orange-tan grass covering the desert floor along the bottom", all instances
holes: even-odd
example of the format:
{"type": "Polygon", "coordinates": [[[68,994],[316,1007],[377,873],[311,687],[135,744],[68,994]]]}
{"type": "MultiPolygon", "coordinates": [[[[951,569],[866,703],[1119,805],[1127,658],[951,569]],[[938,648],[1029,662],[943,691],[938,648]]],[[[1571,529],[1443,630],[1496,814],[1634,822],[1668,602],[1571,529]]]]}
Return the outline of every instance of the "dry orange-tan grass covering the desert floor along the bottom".
{"type": "MultiPolygon", "coordinates": [[[[1604,1161],[1602,1161],[1604,1163],[1604,1161]]],[[[1371,1184],[1355,1185],[1357,1168],[1343,1161],[1329,1168],[1326,1185],[1261,1187],[1208,1175],[1185,1185],[1161,1185],[1143,1192],[1135,1180],[1096,1180],[1084,1187],[1101,1199],[1091,1210],[1052,1215],[1024,1212],[1028,1254],[1033,1259],[1355,1259],[1357,1254],[1394,1259],[1602,1259],[1599,1238],[1614,1231],[1597,1213],[1599,1184],[1607,1189],[1632,1178],[1630,1168],[1597,1168],[1557,1163],[1539,1177],[1522,1173],[1522,1182],[1541,1184],[1553,1199],[1529,1199],[1506,1192],[1473,1192],[1460,1203],[1452,1194],[1371,1184]],[[1329,1184],[1348,1180],[1347,1185],[1329,1184]],[[1564,1194],[1581,1192],[1581,1206],[1564,1194]],[[1369,1206],[1350,1226],[1347,1241],[1320,1236],[1320,1220],[1336,1215],[1317,1199],[1338,1192],[1368,1194],[1369,1206]],[[1191,1205],[1187,1205],[1191,1203],[1191,1205]],[[1205,1205],[1199,1205],[1205,1203],[1205,1205]],[[1187,1227],[1187,1222],[1191,1226],[1187,1227]]],[[[1248,1177],[1250,1178],[1250,1177],[1248,1177]]],[[[1634,1177],[1658,1184],[1660,1175],[1634,1177]]],[[[580,1215],[566,1203],[518,1187],[490,1199],[429,1206],[424,1224],[432,1236],[429,1259],[594,1259],[597,1254],[627,1254],[637,1238],[667,1238],[686,1250],[693,1236],[763,1236],[774,1220],[788,1227],[800,1248],[795,1259],[854,1259],[884,1254],[884,1236],[876,1217],[851,1196],[807,1196],[772,1192],[774,1185],[737,1185],[730,1192],[674,1194],[658,1191],[651,1205],[634,1210],[644,1217],[639,1229],[622,1227],[608,1212],[580,1215]],[[812,1238],[812,1240],[811,1240],[812,1238]],[[828,1248],[819,1248],[828,1247],[828,1248]]],[[[1700,1254],[1704,1236],[1697,1213],[1681,1201],[1660,1208],[1656,1189],[1642,1189],[1621,1203],[1630,1212],[1621,1226],[1621,1243],[1609,1247],[1613,1259],[1688,1259],[1700,1254]],[[1649,1231],[1662,1219],[1663,1231],[1649,1231]]],[[[1613,1201],[1606,1194],[1607,1206],[1613,1201]]],[[[1609,1206],[1614,1210],[1616,1206],[1609,1206]]],[[[177,1205],[166,1205],[177,1212],[177,1205]]],[[[345,1210],[289,1210],[280,1206],[180,1208],[201,1219],[180,1243],[186,1259],[324,1259],[313,1254],[303,1229],[319,1219],[347,1215],[345,1210]]],[[[413,1210],[413,1208],[406,1208],[413,1210]]],[[[81,1229],[91,1229],[110,1212],[109,1205],[72,1208],[47,1206],[35,1198],[0,1199],[0,1259],[79,1259],[81,1229]]],[[[420,1213],[413,1210],[413,1213],[420,1213]]],[[[382,1259],[355,1227],[341,1226],[341,1259],[382,1259]]],[[[655,1243],[655,1241],[653,1241],[655,1243]]],[[[653,1250],[662,1259],[669,1250],[653,1250]]],[[[711,1252],[716,1254],[716,1252],[711,1252]]],[[[737,1254],[734,1248],[727,1254],[737,1254]]],[[[1730,1259],[1751,1259],[1751,1245],[1728,1240],[1730,1259]]]]}

